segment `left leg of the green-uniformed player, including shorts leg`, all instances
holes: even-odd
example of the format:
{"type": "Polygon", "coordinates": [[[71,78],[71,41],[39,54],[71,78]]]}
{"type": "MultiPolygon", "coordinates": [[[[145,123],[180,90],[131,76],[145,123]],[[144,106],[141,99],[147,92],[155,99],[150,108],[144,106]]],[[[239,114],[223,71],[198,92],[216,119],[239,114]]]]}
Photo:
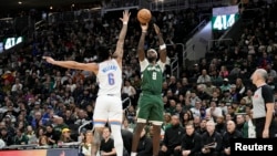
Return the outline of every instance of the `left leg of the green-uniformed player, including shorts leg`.
{"type": "Polygon", "coordinates": [[[146,95],[141,95],[138,100],[138,105],[137,105],[138,108],[137,108],[137,114],[136,114],[137,121],[136,121],[136,126],[135,126],[134,134],[133,134],[131,156],[136,156],[136,150],[137,150],[138,142],[141,138],[141,133],[150,115],[151,107],[147,103],[147,100],[148,98],[146,95]]]}

